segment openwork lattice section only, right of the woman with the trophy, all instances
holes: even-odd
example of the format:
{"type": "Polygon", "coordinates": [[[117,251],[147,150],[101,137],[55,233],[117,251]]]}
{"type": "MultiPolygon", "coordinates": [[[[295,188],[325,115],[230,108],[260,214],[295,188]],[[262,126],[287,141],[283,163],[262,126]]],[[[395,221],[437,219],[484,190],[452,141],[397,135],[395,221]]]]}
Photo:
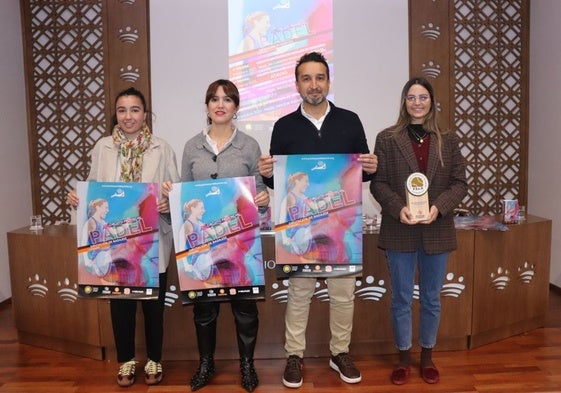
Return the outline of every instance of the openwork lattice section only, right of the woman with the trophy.
{"type": "Polygon", "coordinates": [[[520,0],[456,0],[454,121],[467,159],[475,214],[526,204],[528,28],[520,0]]]}

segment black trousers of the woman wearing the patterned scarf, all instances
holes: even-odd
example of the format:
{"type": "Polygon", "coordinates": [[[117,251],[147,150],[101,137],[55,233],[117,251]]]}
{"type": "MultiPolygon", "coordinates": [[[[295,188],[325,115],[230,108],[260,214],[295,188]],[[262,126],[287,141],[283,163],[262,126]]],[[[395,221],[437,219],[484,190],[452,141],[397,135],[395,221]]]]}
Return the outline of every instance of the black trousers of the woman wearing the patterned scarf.
{"type": "Polygon", "coordinates": [[[157,300],[112,299],[111,323],[117,349],[117,361],[128,362],[135,357],[136,305],[142,305],[146,356],[160,362],[164,339],[164,300],[167,287],[167,273],[160,273],[160,291],[157,300]]]}

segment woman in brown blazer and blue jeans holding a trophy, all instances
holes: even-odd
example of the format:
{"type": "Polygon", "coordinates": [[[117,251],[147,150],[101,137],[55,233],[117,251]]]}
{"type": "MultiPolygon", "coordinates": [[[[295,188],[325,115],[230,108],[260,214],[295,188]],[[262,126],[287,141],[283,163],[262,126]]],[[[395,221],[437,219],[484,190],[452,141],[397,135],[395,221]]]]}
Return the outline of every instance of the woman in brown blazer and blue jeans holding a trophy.
{"type": "Polygon", "coordinates": [[[417,269],[421,377],[427,383],[440,380],[432,362],[440,322],[440,290],[448,255],[457,248],[453,211],[467,193],[458,138],[438,127],[436,114],[430,83],[424,78],[410,79],[401,92],[396,124],[378,134],[374,149],[378,172],[370,191],[382,207],[379,246],[386,252],[391,277],[391,317],[399,350],[399,364],[391,380],[397,385],[409,378],[417,269]],[[422,218],[407,207],[406,182],[414,172],[428,179],[429,210],[422,218]]]}

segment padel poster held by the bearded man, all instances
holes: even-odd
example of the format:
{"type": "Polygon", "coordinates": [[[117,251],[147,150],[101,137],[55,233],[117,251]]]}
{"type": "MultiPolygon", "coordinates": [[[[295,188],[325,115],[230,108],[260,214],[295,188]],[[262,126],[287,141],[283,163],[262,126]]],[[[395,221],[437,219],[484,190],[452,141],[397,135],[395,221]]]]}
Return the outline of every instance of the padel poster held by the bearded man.
{"type": "Polygon", "coordinates": [[[277,155],[277,275],[362,271],[362,165],[358,154],[277,155]]]}

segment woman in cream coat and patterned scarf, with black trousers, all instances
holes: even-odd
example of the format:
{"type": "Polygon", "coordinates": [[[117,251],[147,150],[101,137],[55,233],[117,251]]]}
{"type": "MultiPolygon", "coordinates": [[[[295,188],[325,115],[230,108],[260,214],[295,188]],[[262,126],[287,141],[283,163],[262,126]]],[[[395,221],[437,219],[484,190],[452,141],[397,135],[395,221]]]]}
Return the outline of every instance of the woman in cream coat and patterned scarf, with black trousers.
{"type": "MultiPolygon", "coordinates": [[[[163,139],[153,135],[146,124],[146,100],[135,88],[120,92],[115,100],[115,119],[111,136],[100,139],[92,151],[88,181],[178,182],[175,153],[163,139]]],[[[68,203],[78,205],[75,191],[68,194],[68,203]]],[[[136,307],[140,302],[144,314],[147,362],[145,382],[155,385],[162,380],[162,343],[164,296],[167,267],[171,255],[173,235],[171,225],[162,215],[169,213],[167,198],[158,202],[159,217],[159,297],[157,300],[112,299],[111,321],[117,361],[121,363],[117,376],[120,386],[135,381],[135,325],[136,307]]]]}

